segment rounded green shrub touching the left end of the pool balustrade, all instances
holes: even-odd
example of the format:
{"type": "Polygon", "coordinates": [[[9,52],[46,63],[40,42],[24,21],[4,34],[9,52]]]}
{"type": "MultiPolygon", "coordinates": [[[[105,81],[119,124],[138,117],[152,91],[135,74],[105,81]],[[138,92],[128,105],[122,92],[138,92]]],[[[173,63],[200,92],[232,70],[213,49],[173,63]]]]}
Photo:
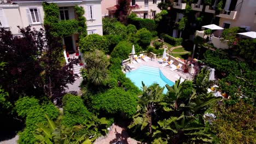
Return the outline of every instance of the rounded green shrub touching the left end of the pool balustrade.
{"type": "Polygon", "coordinates": [[[129,58],[129,54],[130,54],[131,50],[132,50],[131,43],[129,43],[127,41],[121,41],[117,46],[115,46],[113,52],[111,53],[111,57],[127,59],[127,58],[129,58]]]}

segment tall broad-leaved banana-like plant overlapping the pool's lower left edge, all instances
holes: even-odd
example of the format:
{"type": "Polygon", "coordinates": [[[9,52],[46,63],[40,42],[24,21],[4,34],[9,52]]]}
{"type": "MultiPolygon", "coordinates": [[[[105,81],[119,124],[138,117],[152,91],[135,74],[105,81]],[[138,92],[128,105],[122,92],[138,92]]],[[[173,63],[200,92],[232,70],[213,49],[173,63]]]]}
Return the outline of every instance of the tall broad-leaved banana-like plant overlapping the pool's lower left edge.
{"type": "Polygon", "coordinates": [[[128,128],[132,128],[135,125],[141,125],[141,130],[148,126],[149,134],[152,134],[152,115],[157,110],[157,105],[162,100],[162,92],[164,87],[160,87],[158,84],[153,84],[151,87],[147,87],[142,82],[143,93],[138,98],[139,105],[137,106],[137,113],[133,116],[133,122],[128,128]]]}

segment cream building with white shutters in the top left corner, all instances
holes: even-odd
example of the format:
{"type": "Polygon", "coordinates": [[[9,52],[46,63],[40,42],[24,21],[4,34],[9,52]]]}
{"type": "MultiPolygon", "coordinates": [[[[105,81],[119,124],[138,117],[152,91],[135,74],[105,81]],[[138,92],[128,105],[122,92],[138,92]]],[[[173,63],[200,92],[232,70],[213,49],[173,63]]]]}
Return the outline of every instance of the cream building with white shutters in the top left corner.
{"type": "MultiPolygon", "coordinates": [[[[31,26],[39,30],[44,28],[43,2],[56,3],[60,9],[60,20],[77,19],[74,6],[79,5],[85,9],[88,34],[102,35],[101,0],[14,0],[0,4],[0,27],[19,35],[20,27],[31,26]]],[[[67,51],[75,51],[78,42],[78,33],[63,38],[67,51]]]]}

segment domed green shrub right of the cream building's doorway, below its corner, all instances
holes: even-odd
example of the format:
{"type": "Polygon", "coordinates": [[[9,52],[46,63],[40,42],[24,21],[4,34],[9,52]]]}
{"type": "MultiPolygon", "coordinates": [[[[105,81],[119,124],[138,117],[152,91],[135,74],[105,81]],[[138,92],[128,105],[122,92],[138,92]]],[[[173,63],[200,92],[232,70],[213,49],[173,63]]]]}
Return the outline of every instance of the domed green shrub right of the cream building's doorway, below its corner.
{"type": "Polygon", "coordinates": [[[98,34],[89,34],[79,41],[79,49],[83,53],[94,51],[95,49],[108,52],[107,45],[106,38],[98,34]]]}

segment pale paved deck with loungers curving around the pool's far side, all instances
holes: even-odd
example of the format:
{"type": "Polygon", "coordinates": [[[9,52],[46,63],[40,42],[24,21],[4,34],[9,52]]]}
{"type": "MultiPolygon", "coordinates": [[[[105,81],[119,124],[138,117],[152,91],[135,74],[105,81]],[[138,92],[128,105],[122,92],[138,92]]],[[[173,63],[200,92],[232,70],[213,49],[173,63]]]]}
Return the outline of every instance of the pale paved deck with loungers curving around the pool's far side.
{"type": "MultiPolygon", "coordinates": [[[[182,81],[184,81],[185,79],[192,80],[193,79],[193,74],[195,72],[193,67],[192,67],[191,72],[190,72],[191,74],[190,73],[184,73],[184,71],[182,69],[172,71],[172,70],[170,70],[169,65],[167,65],[166,67],[162,67],[162,65],[158,62],[158,59],[153,59],[152,61],[149,60],[148,62],[145,62],[141,59],[141,63],[137,63],[135,60],[132,60],[132,63],[128,64],[128,65],[132,66],[132,67],[135,67],[135,68],[132,68],[132,71],[138,69],[142,65],[147,65],[149,67],[157,67],[161,70],[162,74],[164,74],[167,79],[169,79],[173,82],[178,80],[179,77],[182,78],[182,81]]],[[[124,73],[125,73],[125,71],[124,71],[124,73]]]]}

